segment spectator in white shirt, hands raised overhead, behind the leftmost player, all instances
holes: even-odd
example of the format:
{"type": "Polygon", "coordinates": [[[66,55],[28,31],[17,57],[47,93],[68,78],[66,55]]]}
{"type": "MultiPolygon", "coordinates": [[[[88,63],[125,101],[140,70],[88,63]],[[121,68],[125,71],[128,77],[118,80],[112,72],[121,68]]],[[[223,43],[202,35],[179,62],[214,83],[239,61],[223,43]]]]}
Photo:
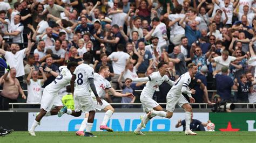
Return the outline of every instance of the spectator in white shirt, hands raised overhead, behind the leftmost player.
{"type": "MultiPolygon", "coordinates": [[[[39,71],[43,75],[42,80],[38,80],[38,70],[30,67],[30,72],[28,77],[26,77],[26,83],[28,84],[28,99],[26,103],[40,104],[42,98],[42,85],[47,80],[44,74],[43,68],[40,67],[39,71]],[[32,77],[32,79],[31,79],[32,77]]],[[[40,105],[31,105],[31,108],[39,108],[40,105]]]]}

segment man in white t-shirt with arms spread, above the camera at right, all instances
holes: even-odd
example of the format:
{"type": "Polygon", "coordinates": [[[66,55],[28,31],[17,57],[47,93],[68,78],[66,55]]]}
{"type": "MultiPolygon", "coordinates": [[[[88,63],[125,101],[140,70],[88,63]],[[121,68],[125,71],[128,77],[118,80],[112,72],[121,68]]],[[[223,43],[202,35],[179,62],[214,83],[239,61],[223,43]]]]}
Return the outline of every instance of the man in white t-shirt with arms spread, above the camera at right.
{"type": "Polygon", "coordinates": [[[242,60],[244,58],[247,58],[247,54],[245,54],[244,56],[240,56],[238,58],[235,58],[234,56],[230,56],[229,52],[227,50],[224,50],[223,52],[221,52],[220,56],[217,56],[215,58],[212,59],[212,54],[214,54],[214,52],[211,53],[211,55],[208,58],[208,61],[210,62],[217,62],[217,66],[215,70],[220,70],[222,67],[229,67],[230,63],[232,61],[235,60],[242,60]]]}

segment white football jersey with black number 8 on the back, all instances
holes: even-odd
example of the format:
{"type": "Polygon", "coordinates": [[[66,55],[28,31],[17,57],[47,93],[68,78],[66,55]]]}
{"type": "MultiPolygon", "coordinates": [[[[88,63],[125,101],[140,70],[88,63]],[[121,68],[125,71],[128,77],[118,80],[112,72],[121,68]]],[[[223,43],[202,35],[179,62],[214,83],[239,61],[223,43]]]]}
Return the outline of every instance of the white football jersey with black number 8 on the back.
{"type": "Polygon", "coordinates": [[[82,63],[76,67],[74,74],[76,75],[76,87],[74,95],[91,96],[89,78],[94,78],[94,69],[89,65],[82,63]]]}

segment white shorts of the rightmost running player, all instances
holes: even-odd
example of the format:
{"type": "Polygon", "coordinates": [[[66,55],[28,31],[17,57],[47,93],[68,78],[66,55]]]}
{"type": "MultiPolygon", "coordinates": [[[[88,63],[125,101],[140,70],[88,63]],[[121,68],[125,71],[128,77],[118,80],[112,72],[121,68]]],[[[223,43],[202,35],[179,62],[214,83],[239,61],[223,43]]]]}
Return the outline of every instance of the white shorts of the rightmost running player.
{"type": "Polygon", "coordinates": [[[186,103],[189,104],[187,102],[187,99],[183,95],[180,95],[178,98],[167,97],[166,100],[167,100],[166,110],[170,112],[174,111],[176,105],[181,107],[186,103]]]}

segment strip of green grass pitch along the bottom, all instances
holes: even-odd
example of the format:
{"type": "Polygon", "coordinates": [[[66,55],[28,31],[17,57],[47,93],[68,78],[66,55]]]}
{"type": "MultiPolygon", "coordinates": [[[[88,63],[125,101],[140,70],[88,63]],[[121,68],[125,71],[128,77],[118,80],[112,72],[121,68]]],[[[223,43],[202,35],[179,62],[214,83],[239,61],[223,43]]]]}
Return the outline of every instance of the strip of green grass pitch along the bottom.
{"type": "Polygon", "coordinates": [[[92,132],[96,138],[76,136],[75,132],[36,132],[31,137],[28,132],[12,132],[0,137],[0,142],[256,142],[256,132],[197,132],[197,135],[185,135],[184,132],[144,132],[146,135],[134,135],[133,132],[92,132]]]}

